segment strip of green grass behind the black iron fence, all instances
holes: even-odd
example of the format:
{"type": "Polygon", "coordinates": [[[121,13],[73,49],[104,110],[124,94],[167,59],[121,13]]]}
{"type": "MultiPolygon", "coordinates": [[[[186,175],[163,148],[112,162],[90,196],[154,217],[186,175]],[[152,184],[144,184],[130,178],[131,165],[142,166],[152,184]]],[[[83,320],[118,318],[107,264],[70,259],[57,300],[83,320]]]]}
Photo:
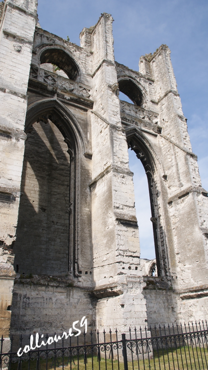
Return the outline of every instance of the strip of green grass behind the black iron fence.
{"type": "MultiPolygon", "coordinates": [[[[114,356],[117,354],[117,350],[114,351],[114,356]]],[[[104,355],[104,353],[102,353],[104,355]]],[[[100,360],[100,368],[99,368],[99,361],[97,361],[97,356],[93,357],[93,370],[112,370],[112,360],[111,358],[108,359],[109,352],[107,354],[107,359],[105,363],[105,358],[101,358],[100,360]]],[[[134,354],[135,356],[135,354],[134,354]]],[[[147,356],[147,354],[145,355],[147,356]]],[[[148,361],[148,358],[143,361],[142,355],[139,356],[139,367],[138,367],[138,361],[133,361],[134,368],[132,366],[132,361],[128,362],[128,370],[204,370],[208,369],[208,351],[207,346],[206,348],[203,348],[203,345],[201,345],[201,351],[200,348],[197,347],[192,350],[191,347],[185,346],[181,348],[178,348],[177,350],[169,349],[168,351],[160,350],[159,352],[154,351],[154,359],[152,358],[152,353],[150,354],[150,364],[148,361]],[[163,354],[164,354],[164,360],[163,360],[163,354]],[[158,356],[159,355],[159,356],[158,356]],[[206,362],[207,360],[207,362],[206,362]],[[183,366],[182,366],[183,363],[183,366]]],[[[62,367],[62,358],[57,358],[58,362],[56,361],[56,369],[59,367],[62,367]]],[[[78,370],[78,361],[77,356],[74,357],[74,363],[70,361],[67,365],[68,357],[64,357],[64,370],[78,370]]],[[[130,359],[129,359],[130,360],[130,359]]],[[[53,359],[48,359],[48,366],[47,369],[51,369],[53,359]]],[[[124,370],[124,363],[123,363],[123,357],[121,355],[120,361],[119,361],[119,367],[120,370],[124,370]]],[[[11,364],[11,370],[17,370],[18,369],[18,363],[11,364]]],[[[52,369],[54,369],[54,363],[52,365],[52,369]]],[[[28,361],[22,361],[21,368],[19,370],[28,370],[28,361]]],[[[40,359],[40,363],[37,366],[37,359],[30,360],[30,370],[46,370],[46,360],[40,359]]],[[[79,370],[85,370],[85,364],[84,364],[84,357],[79,357],[79,370]]],[[[86,370],[92,370],[92,357],[91,354],[88,354],[87,356],[87,364],[86,364],[86,370]]],[[[113,370],[118,370],[118,361],[113,360],[113,370]]]]}

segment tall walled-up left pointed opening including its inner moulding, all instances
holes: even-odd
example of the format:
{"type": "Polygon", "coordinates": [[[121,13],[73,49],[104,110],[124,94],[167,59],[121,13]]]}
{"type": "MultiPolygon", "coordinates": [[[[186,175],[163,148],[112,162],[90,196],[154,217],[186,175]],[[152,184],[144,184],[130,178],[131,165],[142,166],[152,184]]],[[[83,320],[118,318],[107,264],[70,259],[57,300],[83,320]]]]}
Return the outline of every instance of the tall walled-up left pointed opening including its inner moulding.
{"type": "Polygon", "coordinates": [[[28,275],[75,274],[76,122],[56,100],[32,104],[14,248],[16,271],[28,275]]]}

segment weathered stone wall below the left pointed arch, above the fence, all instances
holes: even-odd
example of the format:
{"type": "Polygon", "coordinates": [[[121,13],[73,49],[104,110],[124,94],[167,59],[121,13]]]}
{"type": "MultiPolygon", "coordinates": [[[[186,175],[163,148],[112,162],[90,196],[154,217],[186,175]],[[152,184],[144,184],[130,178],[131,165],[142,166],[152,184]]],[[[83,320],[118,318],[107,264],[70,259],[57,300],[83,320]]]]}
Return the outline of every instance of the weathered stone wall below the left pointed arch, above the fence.
{"type": "MultiPolygon", "coordinates": [[[[87,317],[88,331],[93,326],[93,299],[89,293],[67,278],[42,275],[29,279],[16,279],[13,292],[11,330],[18,346],[18,334],[23,340],[37,332],[54,335],[72,328],[74,321],[87,317]]],[[[77,326],[78,327],[78,326],[77,326]]],[[[82,332],[84,328],[81,329],[82,332]]],[[[74,332],[74,330],[73,330],[74,332]]],[[[74,339],[76,341],[77,338],[74,339]]],[[[73,341],[73,337],[72,337],[73,341]]]]}

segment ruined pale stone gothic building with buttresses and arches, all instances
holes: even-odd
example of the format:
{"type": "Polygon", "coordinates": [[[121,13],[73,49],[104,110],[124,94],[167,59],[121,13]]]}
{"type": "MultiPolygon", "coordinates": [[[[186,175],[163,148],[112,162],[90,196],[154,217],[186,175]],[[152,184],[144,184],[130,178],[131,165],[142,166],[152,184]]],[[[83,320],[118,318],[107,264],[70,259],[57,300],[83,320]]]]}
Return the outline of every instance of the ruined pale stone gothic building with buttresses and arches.
{"type": "Polygon", "coordinates": [[[169,48],[138,72],[114,60],[110,14],[80,46],[40,27],[37,0],[5,0],[0,17],[0,332],[206,319],[208,193],[169,48]],[[147,174],[158,276],[140,259],[128,148],[147,174]]]}

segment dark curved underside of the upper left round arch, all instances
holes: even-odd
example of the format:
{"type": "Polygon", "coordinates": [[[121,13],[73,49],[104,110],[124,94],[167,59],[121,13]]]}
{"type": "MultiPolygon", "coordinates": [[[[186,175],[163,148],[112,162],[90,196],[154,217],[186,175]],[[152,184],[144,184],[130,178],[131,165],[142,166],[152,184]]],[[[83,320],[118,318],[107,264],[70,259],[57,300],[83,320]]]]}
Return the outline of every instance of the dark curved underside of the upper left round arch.
{"type": "Polygon", "coordinates": [[[76,81],[79,70],[74,60],[64,50],[48,48],[40,55],[40,64],[51,63],[63,70],[70,80],[76,81]]]}

